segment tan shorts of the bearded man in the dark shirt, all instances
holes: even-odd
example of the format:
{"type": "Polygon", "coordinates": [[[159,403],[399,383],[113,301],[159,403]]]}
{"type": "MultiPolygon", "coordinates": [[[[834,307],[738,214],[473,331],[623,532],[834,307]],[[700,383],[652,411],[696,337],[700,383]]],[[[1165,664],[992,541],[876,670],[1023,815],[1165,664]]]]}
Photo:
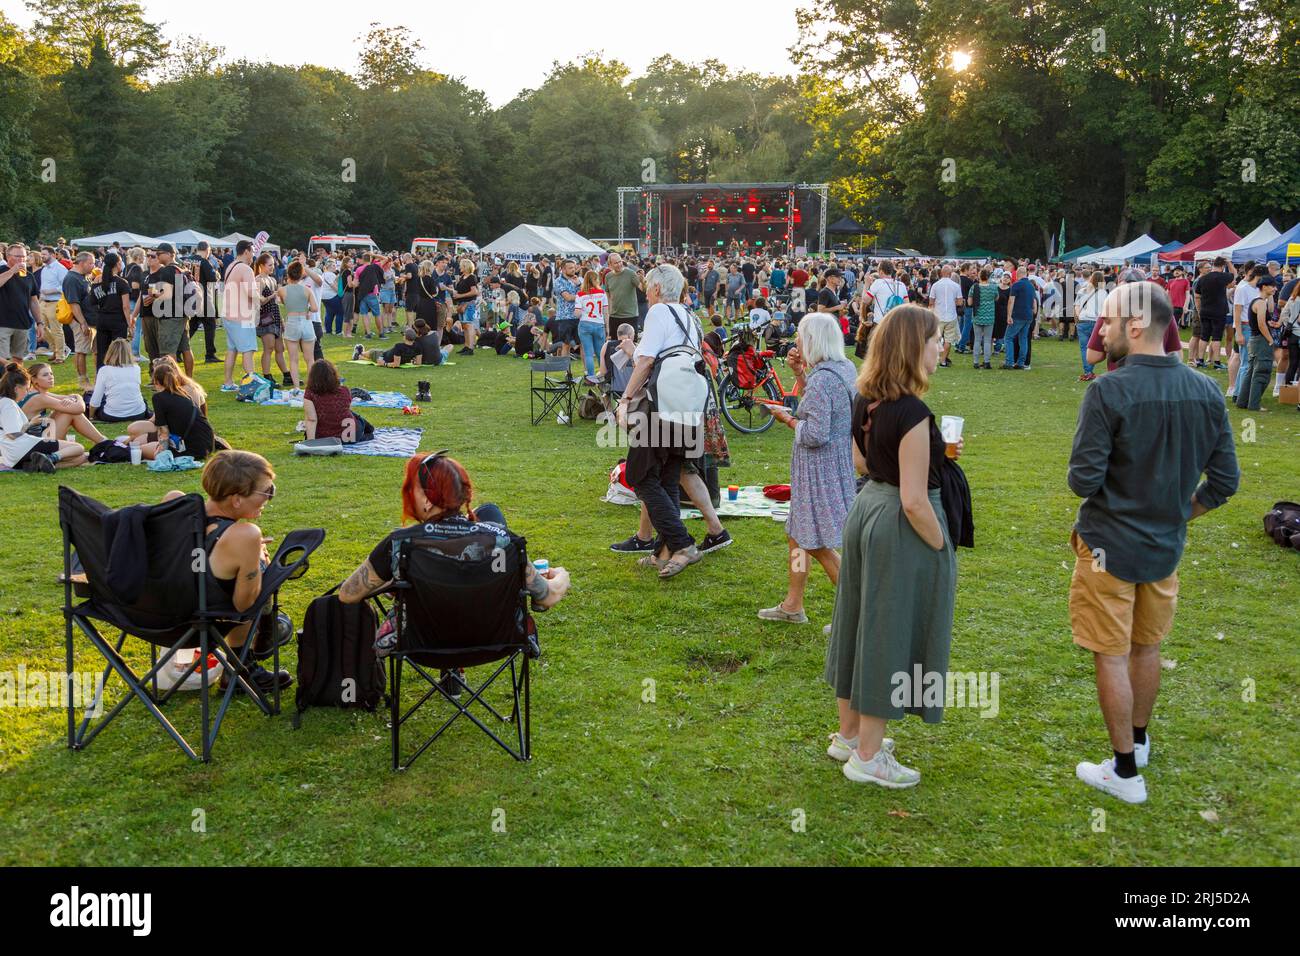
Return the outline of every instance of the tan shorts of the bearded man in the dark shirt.
{"type": "Polygon", "coordinates": [[[1178,572],[1158,581],[1134,584],[1093,570],[1092,550],[1070,532],[1074,576],[1070,579],[1070,628],[1074,643],[1097,654],[1124,656],[1134,644],[1160,644],[1174,626],[1178,572]]]}

